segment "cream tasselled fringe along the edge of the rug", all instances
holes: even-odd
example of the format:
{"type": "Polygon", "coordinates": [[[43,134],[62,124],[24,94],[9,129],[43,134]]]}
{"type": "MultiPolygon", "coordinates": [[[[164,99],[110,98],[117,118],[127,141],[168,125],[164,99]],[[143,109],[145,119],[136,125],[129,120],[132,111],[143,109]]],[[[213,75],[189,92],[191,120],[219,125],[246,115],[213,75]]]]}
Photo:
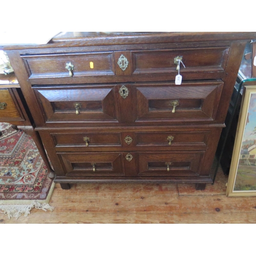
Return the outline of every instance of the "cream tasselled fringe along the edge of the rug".
{"type": "Polygon", "coordinates": [[[41,209],[44,211],[50,210],[53,211],[54,207],[49,204],[41,204],[36,201],[33,201],[30,205],[1,205],[0,203],[0,212],[8,216],[8,220],[11,218],[16,218],[16,220],[24,214],[25,217],[28,217],[32,208],[41,209]]]}

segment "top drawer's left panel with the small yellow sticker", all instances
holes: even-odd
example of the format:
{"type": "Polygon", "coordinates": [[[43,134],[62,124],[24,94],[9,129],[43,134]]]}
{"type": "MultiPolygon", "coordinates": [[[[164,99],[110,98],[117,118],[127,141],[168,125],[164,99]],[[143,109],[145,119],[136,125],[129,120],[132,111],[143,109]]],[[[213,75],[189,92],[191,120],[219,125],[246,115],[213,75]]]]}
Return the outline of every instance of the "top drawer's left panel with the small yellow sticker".
{"type": "Polygon", "coordinates": [[[70,77],[69,62],[74,76],[113,75],[113,58],[113,52],[23,56],[30,78],[70,77]]]}

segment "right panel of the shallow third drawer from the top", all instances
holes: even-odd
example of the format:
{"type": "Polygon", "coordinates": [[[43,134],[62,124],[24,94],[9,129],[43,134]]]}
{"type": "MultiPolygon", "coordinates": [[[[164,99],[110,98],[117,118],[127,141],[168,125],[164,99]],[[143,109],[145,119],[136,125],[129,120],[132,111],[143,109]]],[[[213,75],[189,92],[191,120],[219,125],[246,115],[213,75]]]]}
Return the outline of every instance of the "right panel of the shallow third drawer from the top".
{"type": "MultiPolygon", "coordinates": [[[[180,148],[193,150],[195,146],[207,145],[210,131],[200,132],[151,132],[135,133],[137,146],[165,146],[166,148],[180,148]]],[[[195,149],[194,149],[195,150],[195,149]]]]}

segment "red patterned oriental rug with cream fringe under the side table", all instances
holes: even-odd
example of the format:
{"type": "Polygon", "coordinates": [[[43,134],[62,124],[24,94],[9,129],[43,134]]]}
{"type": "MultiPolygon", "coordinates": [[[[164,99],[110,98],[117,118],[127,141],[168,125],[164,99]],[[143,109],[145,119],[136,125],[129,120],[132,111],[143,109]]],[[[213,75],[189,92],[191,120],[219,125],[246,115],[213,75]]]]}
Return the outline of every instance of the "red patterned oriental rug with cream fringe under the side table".
{"type": "Polygon", "coordinates": [[[0,131],[0,211],[18,218],[34,207],[53,210],[55,184],[33,139],[8,123],[0,123],[0,131]]]}

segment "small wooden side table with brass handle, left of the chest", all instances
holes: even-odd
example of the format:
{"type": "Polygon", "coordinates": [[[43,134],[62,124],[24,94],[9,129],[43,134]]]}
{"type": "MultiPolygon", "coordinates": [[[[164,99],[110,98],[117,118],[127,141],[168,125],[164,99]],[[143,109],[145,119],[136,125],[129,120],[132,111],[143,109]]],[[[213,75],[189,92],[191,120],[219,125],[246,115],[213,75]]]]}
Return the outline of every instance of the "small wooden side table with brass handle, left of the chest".
{"type": "MultiPolygon", "coordinates": [[[[22,130],[33,138],[49,170],[49,177],[54,178],[55,174],[47,158],[44,145],[38,132],[34,130],[33,118],[14,74],[0,74],[0,122],[10,123],[13,129],[22,130]]],[[[2,136],[1,131],[0,136],[2,136]]]]}

